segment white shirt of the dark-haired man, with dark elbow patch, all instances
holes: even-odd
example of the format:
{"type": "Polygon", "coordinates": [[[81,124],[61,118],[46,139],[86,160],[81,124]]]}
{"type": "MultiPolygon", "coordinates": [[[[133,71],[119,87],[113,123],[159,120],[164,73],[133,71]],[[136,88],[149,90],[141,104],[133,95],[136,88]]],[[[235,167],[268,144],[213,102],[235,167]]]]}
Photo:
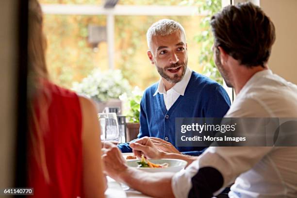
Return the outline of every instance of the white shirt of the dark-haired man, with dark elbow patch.
{"type": "MultiPolygon", "coordinates": [[[[297,86],[271,70],[257,72],[225,117],[297,117],[297,86]]],[[[230,198],[297,198],[297,147],[209,147],[174,175],[175,197],[186,198],[191,178],[206,166],[216,168],[224,178],[214,195],[235,181],[230,198]]]]}

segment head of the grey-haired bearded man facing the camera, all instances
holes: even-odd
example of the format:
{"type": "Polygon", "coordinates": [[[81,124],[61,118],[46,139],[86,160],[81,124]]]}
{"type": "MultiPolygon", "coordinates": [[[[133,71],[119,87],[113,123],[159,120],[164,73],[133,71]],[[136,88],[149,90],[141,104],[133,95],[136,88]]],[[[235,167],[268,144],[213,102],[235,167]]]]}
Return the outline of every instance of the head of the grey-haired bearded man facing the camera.
{"type": "Polygon", "coordinates": [[[168,82],[180,82],[187,67],[187,46],[180,23],[162,19],[147,32],[148,58],[159,74],[168,82]]]}

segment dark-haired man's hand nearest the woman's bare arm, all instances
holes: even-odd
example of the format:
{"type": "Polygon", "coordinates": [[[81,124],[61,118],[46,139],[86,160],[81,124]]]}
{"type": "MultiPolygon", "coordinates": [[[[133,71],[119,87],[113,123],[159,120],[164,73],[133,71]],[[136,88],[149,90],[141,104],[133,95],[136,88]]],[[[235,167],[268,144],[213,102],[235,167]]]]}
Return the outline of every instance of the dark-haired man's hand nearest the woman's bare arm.
{"type": "Polygon", "coordinates": [[[120,173],[123,173],[128,168],[121,151],[110,142],[105,142],[104,148],[101,151],[105,173],[111,178],[118,180],[120,173]]]}

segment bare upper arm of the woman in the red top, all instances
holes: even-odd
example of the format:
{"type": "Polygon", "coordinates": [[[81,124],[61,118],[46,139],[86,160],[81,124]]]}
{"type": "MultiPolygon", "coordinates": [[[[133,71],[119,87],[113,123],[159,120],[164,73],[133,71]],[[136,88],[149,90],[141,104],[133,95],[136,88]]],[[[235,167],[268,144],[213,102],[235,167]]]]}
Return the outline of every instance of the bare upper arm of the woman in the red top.
{"type": "Polygon", "coordinates": [[[107,188],[101,163],[100,126],[95,105],[79,97],[82,109],[83,189],[86,198],[103,198],[107,188]]]}

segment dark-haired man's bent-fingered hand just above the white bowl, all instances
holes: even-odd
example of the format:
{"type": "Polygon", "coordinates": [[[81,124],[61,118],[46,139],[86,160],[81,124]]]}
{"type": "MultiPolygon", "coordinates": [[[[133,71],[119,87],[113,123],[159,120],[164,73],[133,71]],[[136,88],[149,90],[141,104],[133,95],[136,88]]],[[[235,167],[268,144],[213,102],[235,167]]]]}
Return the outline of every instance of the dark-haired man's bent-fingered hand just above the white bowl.
{"type": "Polygon", "coordinates": [[[136,157],[141,158],[144,154],[148,159],[161,159],[164,155],[162,150],[159,150],[149,137],[143,137],[130,143],[133,153],[136,157]]]}

